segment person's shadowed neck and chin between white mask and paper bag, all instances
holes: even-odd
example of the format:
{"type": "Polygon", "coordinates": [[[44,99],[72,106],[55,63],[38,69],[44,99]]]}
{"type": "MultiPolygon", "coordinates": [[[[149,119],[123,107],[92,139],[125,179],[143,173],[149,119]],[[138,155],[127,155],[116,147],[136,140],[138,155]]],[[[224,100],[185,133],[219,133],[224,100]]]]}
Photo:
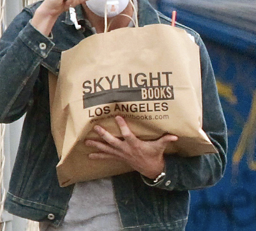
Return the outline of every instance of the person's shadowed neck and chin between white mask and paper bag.
{"type": "MultiPolygon", "coordinates": [[[[86,18],[91,22],[92,27],[96,29],[97,33],[104,32],[104,28],[105,28],[104,18],[91,12],[91,10],[89,10],[89,8],[85,3],[83,3],[82,5],[83,5],[83,9],[85,10],[86,18]]],[[[124,9],[122,14],[129,15],[132,17],[133,13],[134,13],[134,9],[132,8],[132,4],[130,4],[129,2],[129,4],[127,5],[126,9],[124,9]]],[[[108,24],[111,21],[110,28],[108,31],[112,31],[118,28],[126,28],[130,23],[130,18],[123,15],[116,15],[113,18],[108,18],[107,21],[108,21],[108,24]]]]}

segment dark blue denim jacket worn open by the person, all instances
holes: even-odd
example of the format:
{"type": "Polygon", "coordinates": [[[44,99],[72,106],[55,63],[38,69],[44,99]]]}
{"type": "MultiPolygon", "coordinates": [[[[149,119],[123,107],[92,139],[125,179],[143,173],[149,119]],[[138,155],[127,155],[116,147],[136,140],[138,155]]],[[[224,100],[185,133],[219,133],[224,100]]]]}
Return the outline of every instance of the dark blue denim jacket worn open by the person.
{"type": "MultiPolygon", "coordinates": [[[[61,52],[92,34],[81,12],[85,30],[76,30],[69,13],[62,13],[50,37],[29,22],[42,1],[30,5],[12,21],[0,41],[0,123],[12,123],[26,112],[5,208],[14,215],[59,226],[66,215],[73,186],[60,188],[56,176],[58,155],[51,136],[48,71],[58,75],[61,52]]],[[[148,0],[138,1],[140,26],[170,24],[148,0]]],[[[203,130],[219,153],[183,158],[165,156],[166,175],[151,184],[138,172],[112,177],[122,230],[184,230],[189,213],[189,190],[215,185],[224,174],[227,130],[217,95],[213,68],[200,36],[203,92],[203,130]]],[[[86,212],[86,211],[85,211],[86,212]]]]}

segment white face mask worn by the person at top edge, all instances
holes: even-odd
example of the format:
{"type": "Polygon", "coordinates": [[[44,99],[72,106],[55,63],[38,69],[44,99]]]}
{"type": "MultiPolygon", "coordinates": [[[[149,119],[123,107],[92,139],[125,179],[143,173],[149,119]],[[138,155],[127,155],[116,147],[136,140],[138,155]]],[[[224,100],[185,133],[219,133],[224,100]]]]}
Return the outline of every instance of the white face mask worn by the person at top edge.
{"type": "Polygon", "coordinates": [[[107,17],[111,18],[126,9],[129,0],[88,0],[85,3],[93,13],[100,17],[104,17],[107,4],[107,17]]]}

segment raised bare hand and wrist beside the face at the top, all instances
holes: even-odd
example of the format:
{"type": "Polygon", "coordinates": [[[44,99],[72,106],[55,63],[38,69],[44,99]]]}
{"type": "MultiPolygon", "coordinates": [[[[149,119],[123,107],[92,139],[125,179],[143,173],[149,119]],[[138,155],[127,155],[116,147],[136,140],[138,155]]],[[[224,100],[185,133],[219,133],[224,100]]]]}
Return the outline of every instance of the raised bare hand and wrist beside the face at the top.
{"type": "Polygon", "coordinates": [[[31,24],[42,34],[48,36],[61,13],[86,0],[45,0],[35,12],[31,24]]]}

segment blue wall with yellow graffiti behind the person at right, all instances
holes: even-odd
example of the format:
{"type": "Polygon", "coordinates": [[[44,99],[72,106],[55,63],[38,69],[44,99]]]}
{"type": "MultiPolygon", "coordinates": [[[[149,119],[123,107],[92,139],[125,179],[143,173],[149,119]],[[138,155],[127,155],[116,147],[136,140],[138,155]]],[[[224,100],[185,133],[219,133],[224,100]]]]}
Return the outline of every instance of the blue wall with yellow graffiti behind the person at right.
{"type": "Polygon", "coordinates": [[[167,16],[177,10],[178,21],[200,33],[212,60],[228,126],[225,176],[212,188],[191,192],[186,231],[255,231],[256,35],[179,10],[167,0],[158,1],[158,7],[167,16]],[[237,164],[232,163],[234,156],[238,156],[237,164]]]}

